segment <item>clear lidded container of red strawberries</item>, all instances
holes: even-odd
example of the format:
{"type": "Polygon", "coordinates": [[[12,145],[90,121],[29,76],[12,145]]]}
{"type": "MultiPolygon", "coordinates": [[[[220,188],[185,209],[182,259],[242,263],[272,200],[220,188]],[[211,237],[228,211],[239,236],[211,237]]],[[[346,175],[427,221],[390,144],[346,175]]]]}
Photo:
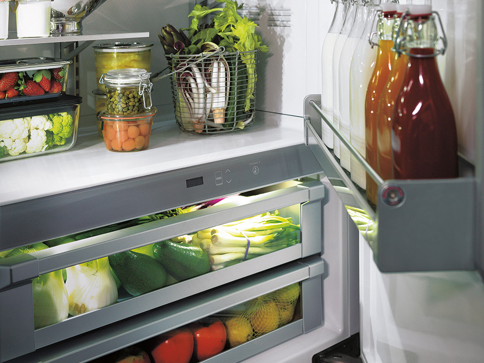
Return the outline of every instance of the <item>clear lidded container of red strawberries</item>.
{"type": "Polygon", "coordinates": [[[61,96],[71,63],[47,57],[0,61],[0,104],[61,96]]]}

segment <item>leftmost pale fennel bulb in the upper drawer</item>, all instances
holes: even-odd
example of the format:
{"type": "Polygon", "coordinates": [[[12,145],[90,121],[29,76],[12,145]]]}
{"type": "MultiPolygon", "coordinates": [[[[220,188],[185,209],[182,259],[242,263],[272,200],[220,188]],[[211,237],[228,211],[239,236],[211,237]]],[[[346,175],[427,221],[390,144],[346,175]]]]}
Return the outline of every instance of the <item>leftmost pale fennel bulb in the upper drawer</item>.
{"type": "Polygon", "coordinates": [[[69,316],[69,301],[62,271],[40,275],[32,281],[35,329],[58,323],[69,316]]]}

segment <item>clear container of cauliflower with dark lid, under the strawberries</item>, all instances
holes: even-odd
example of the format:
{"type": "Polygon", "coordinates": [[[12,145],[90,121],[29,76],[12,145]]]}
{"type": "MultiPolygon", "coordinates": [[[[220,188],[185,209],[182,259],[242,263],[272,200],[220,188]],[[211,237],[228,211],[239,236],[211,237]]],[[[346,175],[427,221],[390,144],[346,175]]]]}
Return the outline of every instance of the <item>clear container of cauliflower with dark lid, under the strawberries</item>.
{"type": "Polygon", "coordinates": [[[0,162],[69,150],[77,140],[82,98],[13,105],[0,113],[0,162]]]}

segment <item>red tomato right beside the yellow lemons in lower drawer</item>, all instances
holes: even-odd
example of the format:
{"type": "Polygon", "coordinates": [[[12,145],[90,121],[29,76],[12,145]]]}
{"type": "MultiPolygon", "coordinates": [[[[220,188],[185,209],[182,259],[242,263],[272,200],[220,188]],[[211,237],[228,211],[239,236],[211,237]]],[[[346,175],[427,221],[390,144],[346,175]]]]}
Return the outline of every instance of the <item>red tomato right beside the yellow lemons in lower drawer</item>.
{"type": "Polygon", "coordinates": [[[189,324],[194,339],[194,355],[204,360],[220,353],[227,341],[225,325],[217,318],[204,318],[189,324]]]}

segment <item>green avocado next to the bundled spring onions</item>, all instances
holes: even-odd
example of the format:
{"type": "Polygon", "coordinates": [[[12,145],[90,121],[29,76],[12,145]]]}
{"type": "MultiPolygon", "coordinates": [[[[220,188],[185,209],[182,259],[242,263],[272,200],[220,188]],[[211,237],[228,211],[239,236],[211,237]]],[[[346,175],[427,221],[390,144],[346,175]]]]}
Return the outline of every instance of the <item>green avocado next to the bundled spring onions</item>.
{"type": "Polygon", "coordinates": [[[153,245],[153,255],[176,280],[210,271],[210,259],[200,247],[164,240],[153,245]]]}

